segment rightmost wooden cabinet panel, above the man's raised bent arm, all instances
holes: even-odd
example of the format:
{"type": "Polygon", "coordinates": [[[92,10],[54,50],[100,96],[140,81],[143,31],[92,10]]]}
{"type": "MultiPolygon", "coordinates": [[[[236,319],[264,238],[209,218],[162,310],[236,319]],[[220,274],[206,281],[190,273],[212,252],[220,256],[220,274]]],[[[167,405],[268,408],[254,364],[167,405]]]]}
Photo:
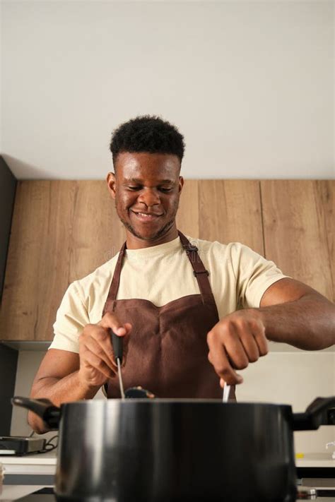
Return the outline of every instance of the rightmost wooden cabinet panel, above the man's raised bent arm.
{"type": "Polygon", "coordinates": [[[261,181],[265,256],[335,301],[335,181],[261,181]]]}

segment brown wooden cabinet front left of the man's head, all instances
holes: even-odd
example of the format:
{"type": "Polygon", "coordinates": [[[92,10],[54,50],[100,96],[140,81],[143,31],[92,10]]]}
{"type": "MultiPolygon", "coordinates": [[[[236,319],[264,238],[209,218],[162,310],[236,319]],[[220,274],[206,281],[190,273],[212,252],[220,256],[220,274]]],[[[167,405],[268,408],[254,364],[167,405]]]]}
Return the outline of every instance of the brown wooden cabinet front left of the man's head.
{"type": "Polygon", "coordinates": [[[104,181],[20,181],[0,338],[52,340],[68,285],[112,258],[124,239],[104,181]]]}

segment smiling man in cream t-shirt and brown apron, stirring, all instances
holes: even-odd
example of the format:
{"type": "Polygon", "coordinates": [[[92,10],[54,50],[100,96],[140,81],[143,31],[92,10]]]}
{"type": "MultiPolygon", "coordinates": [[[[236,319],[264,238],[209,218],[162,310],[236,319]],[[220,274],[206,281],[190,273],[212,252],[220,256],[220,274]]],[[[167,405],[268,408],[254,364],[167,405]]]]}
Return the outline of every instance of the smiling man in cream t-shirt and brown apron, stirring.
{"type": "MultiPolygon", "coordinates": [[[[183,136],[156,116],[119,126],[107,186],[127,234],[122,249],[67,289],[31,396],[55,405],[119,397],[110,330],[124,337],[125,388],[158,397],[219,398],[267,340],[301,349],[335,340],[335,307],[240,243],[187,239],[175,215],[183,136]],[[244,308],[243,308],[244,307],[244,308]]],[[[103,215],[102,215],[103,217],[103,215]]],[[[44,426],[35,415],[30,425],[44,426]]]]}

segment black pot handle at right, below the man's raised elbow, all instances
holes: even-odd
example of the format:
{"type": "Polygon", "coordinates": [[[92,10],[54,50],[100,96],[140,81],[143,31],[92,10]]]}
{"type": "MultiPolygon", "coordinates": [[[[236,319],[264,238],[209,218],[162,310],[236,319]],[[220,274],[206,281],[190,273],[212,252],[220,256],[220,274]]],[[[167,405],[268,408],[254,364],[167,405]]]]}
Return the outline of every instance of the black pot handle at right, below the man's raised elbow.
{"type": "Polygon", "coordinates": [[[335,425],[335,396],[316,398],[305,413],[293,414],[293,431],[311,431],[320,425],[335,425]]]}

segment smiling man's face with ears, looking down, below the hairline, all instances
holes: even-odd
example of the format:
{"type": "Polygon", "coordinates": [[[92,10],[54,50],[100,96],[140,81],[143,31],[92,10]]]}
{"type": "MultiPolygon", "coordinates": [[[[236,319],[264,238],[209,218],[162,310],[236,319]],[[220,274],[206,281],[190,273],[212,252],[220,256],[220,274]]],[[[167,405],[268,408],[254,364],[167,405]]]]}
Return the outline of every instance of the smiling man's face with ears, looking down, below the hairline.
{"type": "MultiPolygon", "coordinates": [[[[117,156],[115,174],[107,174],[107,184],[134,243],[141,244],[140,239],[153,246],[177,237],[175,215],[184,184],[179,172],[176,155],[125,152],[117,156]]],[[[127,245],[129,237],[127,233],[127,245]]]]}

